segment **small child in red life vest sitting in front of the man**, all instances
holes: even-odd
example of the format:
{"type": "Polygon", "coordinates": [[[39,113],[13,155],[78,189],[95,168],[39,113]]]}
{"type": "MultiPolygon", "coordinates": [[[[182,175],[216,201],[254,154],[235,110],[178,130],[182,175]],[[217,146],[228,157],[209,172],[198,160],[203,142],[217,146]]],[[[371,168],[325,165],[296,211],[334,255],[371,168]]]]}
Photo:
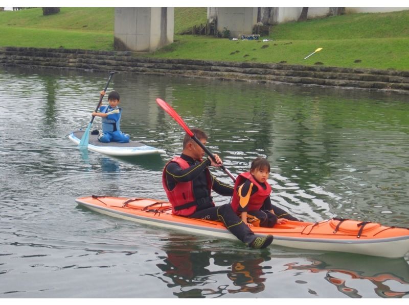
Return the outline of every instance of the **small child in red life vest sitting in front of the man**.
{"type": "Polygon", "coordinates": [[[233,210],[247,226],[272,227],[287,220],[299,221],[284,210],[273,206],[270,200],[271,186],[267,183],[269,162],[261,157],[252,162],[249,172],[241,173],[234,185],[233,210]]]}

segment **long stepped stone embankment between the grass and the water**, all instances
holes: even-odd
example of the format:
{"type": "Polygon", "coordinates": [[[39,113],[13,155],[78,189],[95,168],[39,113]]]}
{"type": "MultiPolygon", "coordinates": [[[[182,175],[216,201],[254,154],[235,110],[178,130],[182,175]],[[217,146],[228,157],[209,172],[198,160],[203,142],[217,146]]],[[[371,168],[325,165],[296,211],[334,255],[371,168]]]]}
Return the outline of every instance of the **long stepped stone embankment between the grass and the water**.
{"type": "Polygon", "coordinates": [[[362,88],[409,94],[409,71],[250,62],[157,59],[131,52],[0,47],[0,65],[362,88]]]}

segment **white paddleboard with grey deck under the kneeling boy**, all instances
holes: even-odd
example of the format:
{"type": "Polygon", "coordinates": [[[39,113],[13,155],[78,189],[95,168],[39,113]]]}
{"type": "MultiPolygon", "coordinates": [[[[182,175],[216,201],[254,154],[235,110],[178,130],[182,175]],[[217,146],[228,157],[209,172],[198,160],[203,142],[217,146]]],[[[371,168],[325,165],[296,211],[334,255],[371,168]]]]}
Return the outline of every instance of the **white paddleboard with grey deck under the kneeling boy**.
{"type": "MultiPolygon", "coordinates": [[[[79,144],[84,131],[75,131],[67,137],[75,144],[79,144]]],[[[98,141],[98,135],[89,133],[88,150],[96,151],[97,153],[108,156],[142,156],[142,155],[163,155],[166,151],[152,146],[148,146],[141,142],[129,141],[129,143],[110,142],[103,143],[98,141]]]]}

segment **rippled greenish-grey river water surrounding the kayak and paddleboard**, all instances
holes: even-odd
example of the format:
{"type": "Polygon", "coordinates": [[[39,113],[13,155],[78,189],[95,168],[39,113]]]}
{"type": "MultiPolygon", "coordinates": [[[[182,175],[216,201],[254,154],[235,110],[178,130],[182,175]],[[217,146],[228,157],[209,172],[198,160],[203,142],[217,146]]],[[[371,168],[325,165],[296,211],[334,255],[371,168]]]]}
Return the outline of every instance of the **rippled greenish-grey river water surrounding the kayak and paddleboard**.
{"type": "Polygon", "coordinates": [[[161,171],[184,131],[156,105],[162,97],[208,133],[234,175],[266,157],[271,199],[293,215],[409,227],[407,95],[118,73],[108,91],[121,94],[121,129],[167,152],[118,160],[83,154],[66,138],[86,128],[107,77],[0,68],[1,298],[409,296],[408,256],[251,250],[75,203],[93,194],[166,199],[161,171]]]}

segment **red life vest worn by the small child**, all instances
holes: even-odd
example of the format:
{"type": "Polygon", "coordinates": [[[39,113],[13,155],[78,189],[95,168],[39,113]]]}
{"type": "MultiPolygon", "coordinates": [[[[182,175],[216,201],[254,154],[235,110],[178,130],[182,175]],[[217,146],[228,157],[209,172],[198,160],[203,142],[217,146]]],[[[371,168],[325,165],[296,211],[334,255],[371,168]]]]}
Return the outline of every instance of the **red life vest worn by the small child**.
{"type": "Polygon", "coordinates": [[[254,179],[254,176],[251,173],[244,172],[244,173],[239,174],[239,176],[237,177],[236,183],[234,184],[233,199],[232,199],[233,211],[235,211],[238,214],[240,213],[239,212],[240,196],[239,196],[237,188],[240,185],[242,185],[246,180],[251,181],[257,187],[257,192],[251,195],[248,200],[247,211],[259,211],[261,206],[264,203],[264,200],[271,193],[271,186],[268,183],[265,183],[267,188],[263,189],[263,187],[257,182],[257,180],[254,179]]]}

